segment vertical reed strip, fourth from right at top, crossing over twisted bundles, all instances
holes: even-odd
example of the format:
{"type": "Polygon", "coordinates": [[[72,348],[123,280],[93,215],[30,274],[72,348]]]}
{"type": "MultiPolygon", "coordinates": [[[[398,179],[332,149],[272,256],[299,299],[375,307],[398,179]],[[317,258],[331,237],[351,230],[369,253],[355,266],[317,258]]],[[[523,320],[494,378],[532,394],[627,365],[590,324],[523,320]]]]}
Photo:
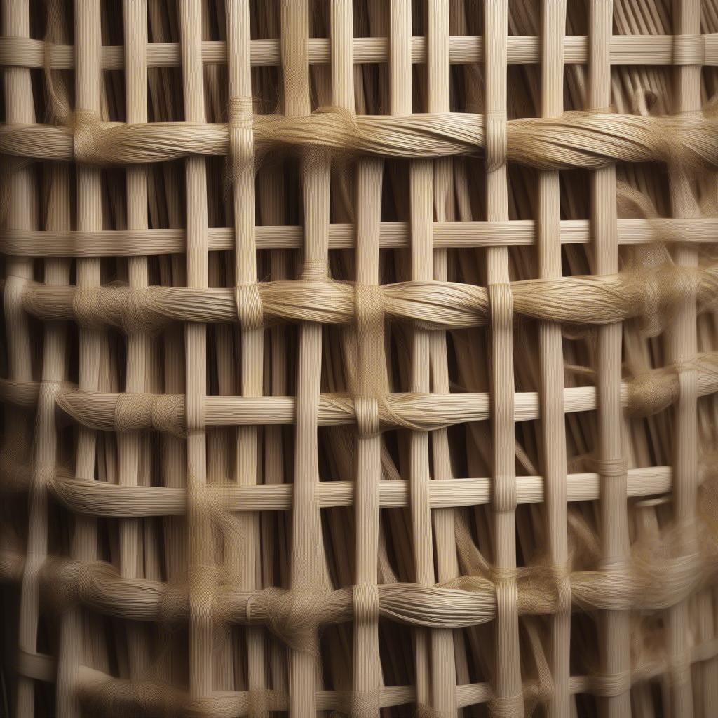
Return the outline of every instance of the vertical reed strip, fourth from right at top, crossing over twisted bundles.
{"type": "MultiPolygon", "coordinates": [[[[506,167],[506,46],[508,2],[485,4],[486,218],[508,220],[506,167]]],[[[521,651],[516,592],[516,459],[513,425],[513,309],[508,250],[490,247],[486,274],[491,312],[496,653],[493,710],[521,712],[521,651]]]]}

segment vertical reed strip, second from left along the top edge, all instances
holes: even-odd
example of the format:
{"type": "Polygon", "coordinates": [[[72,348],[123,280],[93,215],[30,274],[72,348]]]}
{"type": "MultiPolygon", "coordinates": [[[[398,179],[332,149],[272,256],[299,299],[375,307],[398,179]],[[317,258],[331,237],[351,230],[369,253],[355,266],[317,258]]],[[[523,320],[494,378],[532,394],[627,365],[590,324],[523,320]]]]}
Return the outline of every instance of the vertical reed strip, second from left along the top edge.
{"type": "MultiPolygon", "coordinates": [[[[75,107],[85,121],[98,121],[101,108],[101,13],[93,0],[75,0],[75,107]]],[[[102,228],[102,184],[97,167],[77,167],[77,227],[80,231],[102,228]]],[[[78,259],[78,287],[91,289],[101,281],[99,258],[78,259]]],[[[98,391],[100,356],[103,342],[101,330],[81,327],[79,330],[78,387],[98,391]]],[[[75,477],[95,480],[97,435],[80,426],[76,448],[75,477]]],[[[94,518],[77,516],[70,555],[73,559],[93,561],[98,556],[97,522],[94,518]]],[[[62,617],[60,649],[57,661],[57,713],[63,717],[80,715],[75,691],[80,663],[89,662],[89,640],[84,635],[83,614],[71,607],[62,617]]],[[[90,663],[91,665],[91,663],[90,663]]]]}

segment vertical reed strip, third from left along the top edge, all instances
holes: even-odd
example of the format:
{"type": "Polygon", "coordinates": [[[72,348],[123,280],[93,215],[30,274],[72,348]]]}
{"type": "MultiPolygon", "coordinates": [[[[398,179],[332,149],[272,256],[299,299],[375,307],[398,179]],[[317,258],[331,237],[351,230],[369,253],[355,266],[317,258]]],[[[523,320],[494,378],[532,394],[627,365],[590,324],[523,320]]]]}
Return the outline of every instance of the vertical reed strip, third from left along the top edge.
{"type": "MultiPolygon", "coordinates": [[[[128,123],[147,121],[147,4],[146,0],[124,0],[125,33],[125,88],[128,123]]],[[[126,170],[127,228],[146,230],[147,174],[145,167],[129,167],[126,170]]],[[[129,286],[144,289],[149,283],[146,257],[130,257],[127,260],[129,286]]],[[[147,391],[147,362],[149,360],[149,337],[146,332],[131,331],[127,337],[126,392],[147,391]]],[[[119,483],[136,486],[140,482],[143,463],[143,444],[139,432],[120,432],[117,437],[119,483]]],[[[143,541],[141,525],[137,518],[120,522],[120,574],[134,578],[141,566],[143,541]]],[[[141,676],[149,666],[149,645],[144,628],[136,624],[128,626],[128,651],[130,676],[141,676]]]]}

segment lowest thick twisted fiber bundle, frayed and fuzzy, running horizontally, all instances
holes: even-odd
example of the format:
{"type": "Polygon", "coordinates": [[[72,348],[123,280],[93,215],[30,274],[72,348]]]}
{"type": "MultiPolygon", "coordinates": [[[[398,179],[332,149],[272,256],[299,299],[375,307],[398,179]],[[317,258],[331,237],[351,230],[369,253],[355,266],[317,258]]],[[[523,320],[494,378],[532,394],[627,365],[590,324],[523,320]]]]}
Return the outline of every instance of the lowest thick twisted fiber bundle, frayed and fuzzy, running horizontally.
{"type": "MultiPolygon", "coordinates": [[[[681,597],[688,597],[699,587],[713,584],[718,579],[716,486],[715,476],[711,475],[702,490],[706,503],[701,510],[699,545],[686,553],[683,528],[676,526],[667,531],[658,544],[635,544],[625,567],[574,571],[569,574],[569,585],[575,607],[660,610],[674,605],[681,597]]],[[[213,503],[215,508],[210,509],[210,516],[221,523],[223,504],[216,498],[213,503]]],[[[579,559],[597,559],[597,555],[590,555],[587,547],[577,544],[577,548],[587,554],[578,556],[579,559]]],[[[475,549],[467,547],[467,550],[475,549]]],[[[13,555],[22,561],[22,554],[10,552],[4,565],[14,566],[13,555]]],[[[17,568],[8,568],[2,576],[6,579],[17,571],[17,568]]],[[[126,579],[111,564],[66,559],[48,559],[42,575],[46,590],[60,607],[81,602],[116,617],[173,623],[186,621],[189,615],[190,584],[168,586],[146,579],[126,579]]],[[[543,615],[558,610],[558,587],[563,578],[559,569],[538,565],[518,569],[516,576],[520,614],[543,615]]],[[[242,592],[233,584],[232,577],[217,574],[214,579],[206,578],[207,581],[200,579],[200,583],[203,590],[213,594],[214,612],[220,620],[265,624],[299,651],[314,650],[309,639],[318,625],[351,620],[352,603],[357,600],[350,589],[328,594],[297,593],[275,587],[242,592]]],[[[401,583],[378,586],[377,610],[379,615],[410,625],[461,628],[488,623],[495,618],[496,580],[491,575],[468,575],[435,587],[401,583]]]]}

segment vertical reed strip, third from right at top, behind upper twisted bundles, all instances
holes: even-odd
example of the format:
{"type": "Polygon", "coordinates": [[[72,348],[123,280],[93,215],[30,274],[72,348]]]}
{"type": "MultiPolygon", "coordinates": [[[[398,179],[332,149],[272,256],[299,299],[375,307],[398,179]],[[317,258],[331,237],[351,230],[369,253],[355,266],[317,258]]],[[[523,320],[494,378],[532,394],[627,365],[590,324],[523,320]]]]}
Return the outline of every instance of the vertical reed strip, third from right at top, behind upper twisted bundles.
{"type": "MultiPolygon", "coordinates": [[[[566,0],[544,0],[541,6],[541,116],[559,116],[564,110],[564,35],[566,0]]],[[[558,172],[538,176],[538,273],[542,279],[561,274],[561,193],[558,172]]],[[[549,666],[554,690],[549,714],[568,718],[571,709],[571,587],[567,575],[566,417],[564,415],[564,350],[561,325],[538,324],[541,358],[541,449],[548,554],[559,581],[559,610],[551,619],[549,666]]]]}

